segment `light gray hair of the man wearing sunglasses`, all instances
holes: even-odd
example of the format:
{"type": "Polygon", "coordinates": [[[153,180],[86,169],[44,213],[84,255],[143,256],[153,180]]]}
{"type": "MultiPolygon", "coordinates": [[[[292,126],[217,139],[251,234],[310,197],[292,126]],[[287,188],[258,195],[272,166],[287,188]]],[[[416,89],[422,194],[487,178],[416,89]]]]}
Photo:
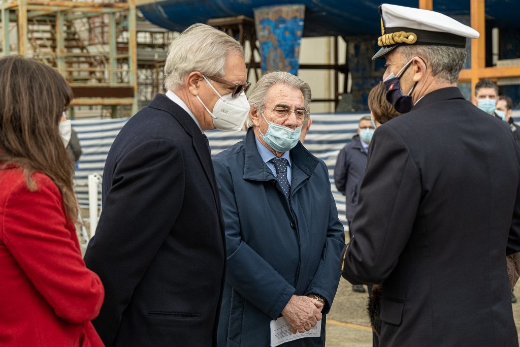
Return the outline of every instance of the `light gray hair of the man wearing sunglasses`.
{"type": "Polygon", "coordinates": [[[242,45],[228,34],[206,24],[193,24],[170,45],[164,65],[164,86],[174,91],[193,71],[222,77],[227,56],[244,55],[242,45]]]}

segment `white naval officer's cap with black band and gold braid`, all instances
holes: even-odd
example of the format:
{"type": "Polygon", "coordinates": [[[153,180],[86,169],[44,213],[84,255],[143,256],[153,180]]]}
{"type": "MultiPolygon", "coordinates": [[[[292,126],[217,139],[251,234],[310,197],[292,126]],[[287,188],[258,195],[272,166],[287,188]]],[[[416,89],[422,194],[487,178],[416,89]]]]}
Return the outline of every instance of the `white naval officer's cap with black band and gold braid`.
{"type": "Polygon", "coordinates": [[[402,45],[442,45],[466,47],[466,38],[478,38],[478,31],[439,12],[419,8],[382,4],[381,49],[372,59],[383,59],[402,45]]]}

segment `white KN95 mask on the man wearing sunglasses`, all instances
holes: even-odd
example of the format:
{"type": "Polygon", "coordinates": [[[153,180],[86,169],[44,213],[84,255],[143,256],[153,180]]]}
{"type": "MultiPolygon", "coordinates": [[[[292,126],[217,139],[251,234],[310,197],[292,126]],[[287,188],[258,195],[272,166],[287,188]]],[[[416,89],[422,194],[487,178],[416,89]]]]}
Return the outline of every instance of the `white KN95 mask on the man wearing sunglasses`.
{"type": "Polygon", "coordinates": [[[218,95],[218,100],[215,102],[215,106],[213,106],[213,112],[210,111],[210,109],[204,105],[204,102],[202,102],[200,97],[196,95],[197,99],[202,104],[202,106],[204,106],[207,113],[209,113],[213,118],[213,125],[215,125],[218,130],[223,131],[242,130],[245,119],[248,117],[249,110],[251,108],[245,93],[242,92],[236,98],[231,96],[232,93],[222,96],[217,92],[217,90],[211,85],[210,81],[208,81],[204,75],[202,75],[202,77],[211,87],[211,89],[213,89],[213,92],[218,95]]]}

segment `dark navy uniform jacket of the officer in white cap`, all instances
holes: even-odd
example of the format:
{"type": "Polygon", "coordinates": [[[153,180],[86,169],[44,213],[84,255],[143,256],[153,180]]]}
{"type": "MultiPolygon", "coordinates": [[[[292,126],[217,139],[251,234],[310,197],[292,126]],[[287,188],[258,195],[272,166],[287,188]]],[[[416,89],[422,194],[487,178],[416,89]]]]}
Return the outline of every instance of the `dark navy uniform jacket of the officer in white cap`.
{"type": "Polygon", "coordinates": [[[382,346],[518,345],[519,162],[508,127],[455,87],[375,131],[343,276],[383,283],[382,346]]]}

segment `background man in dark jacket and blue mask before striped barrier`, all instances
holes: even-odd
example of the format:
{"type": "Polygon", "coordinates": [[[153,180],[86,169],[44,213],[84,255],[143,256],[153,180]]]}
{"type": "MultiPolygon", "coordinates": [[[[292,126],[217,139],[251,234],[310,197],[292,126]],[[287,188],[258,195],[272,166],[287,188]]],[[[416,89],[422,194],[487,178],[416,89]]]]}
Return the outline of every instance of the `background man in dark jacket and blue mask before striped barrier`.
{"type": "MultiPolygon", "coordinates": [[[[359,186],[365,175],[367,166],[368,145],[372,140],[374,125],[370,116],[361,117],[358,122],[357,134],[346,144],[337,155],[334,168],[334,184],[338,191],[345,196],[345,215],[348,223],[354,218],[359,197],[359,186]]],[[[352,239],[352,228],[348,228],[348,235],[352,239]]],[[[365,292],[362,285],[352,285],[352,290],[365,292]]]]}

